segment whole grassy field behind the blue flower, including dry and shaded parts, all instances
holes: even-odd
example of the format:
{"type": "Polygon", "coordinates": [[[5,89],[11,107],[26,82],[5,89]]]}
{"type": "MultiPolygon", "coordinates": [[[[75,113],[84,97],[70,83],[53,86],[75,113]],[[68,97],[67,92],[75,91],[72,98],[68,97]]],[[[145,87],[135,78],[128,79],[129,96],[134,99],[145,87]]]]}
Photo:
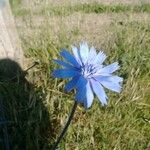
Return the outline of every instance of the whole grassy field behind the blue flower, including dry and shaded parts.
{"type": "Polygon", "coordinates": [[[124,78],[123,89],[121,94],[107,91],[106,107],[97,98],[88,110],[78,106],[58,149],[149,150],[150,4],[78,3],[42,5],[33,10],[17,9],[18,5],[12,5],[12,9],[25,52],[25,68],[34,62],[38,65],[28,71],[26,80],[0,82],[5,118],[10,122],[10,147],[50,149],[75,95],[75,91],[64,92],[66,81],[51,76],[58,67],[52,59],[60,58],[61,48],[71,50],[72,44],[87,41],[107,54],[106,64],[120,63],[117,74],[124,78]]]}

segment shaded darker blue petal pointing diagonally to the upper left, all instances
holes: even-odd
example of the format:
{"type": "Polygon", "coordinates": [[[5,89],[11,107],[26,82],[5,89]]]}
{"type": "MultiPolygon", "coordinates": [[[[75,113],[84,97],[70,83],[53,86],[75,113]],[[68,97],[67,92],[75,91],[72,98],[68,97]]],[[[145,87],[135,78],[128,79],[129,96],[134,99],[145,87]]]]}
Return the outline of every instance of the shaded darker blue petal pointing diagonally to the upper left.
{"type": "Polygon", "coordinates": [[[60,52],[61,56],[63,56],[69,63],[73,64],[75,67],[80,68],[79,63],[75,59],[73,55],[71,55],[68,51],[63,50],[60,52]]]}

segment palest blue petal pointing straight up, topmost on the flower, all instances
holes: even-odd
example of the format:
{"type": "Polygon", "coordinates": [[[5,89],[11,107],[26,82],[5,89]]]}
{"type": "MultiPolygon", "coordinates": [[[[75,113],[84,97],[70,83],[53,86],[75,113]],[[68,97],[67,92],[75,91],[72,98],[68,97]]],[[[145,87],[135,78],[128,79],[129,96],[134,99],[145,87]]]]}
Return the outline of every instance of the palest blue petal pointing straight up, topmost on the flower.
{"type": "Polygon", "coordinates": [[[83,42],[80,44],[80,57],[82,63],[86,63],[88,59],[88,54],[89,54],[89,47],[86,42],[83,42]]]}

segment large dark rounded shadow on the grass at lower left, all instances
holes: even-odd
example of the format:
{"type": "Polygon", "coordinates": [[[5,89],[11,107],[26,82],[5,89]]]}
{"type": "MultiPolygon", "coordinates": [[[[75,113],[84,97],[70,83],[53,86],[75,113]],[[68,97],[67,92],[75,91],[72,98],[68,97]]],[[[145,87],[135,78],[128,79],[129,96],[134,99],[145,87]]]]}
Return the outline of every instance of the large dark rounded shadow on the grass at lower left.
{"type": "Polygon", "coordinates": [[[44,94],[10,59],[0,60],[0,150],[48,149],[53,137],[44,94]]]}

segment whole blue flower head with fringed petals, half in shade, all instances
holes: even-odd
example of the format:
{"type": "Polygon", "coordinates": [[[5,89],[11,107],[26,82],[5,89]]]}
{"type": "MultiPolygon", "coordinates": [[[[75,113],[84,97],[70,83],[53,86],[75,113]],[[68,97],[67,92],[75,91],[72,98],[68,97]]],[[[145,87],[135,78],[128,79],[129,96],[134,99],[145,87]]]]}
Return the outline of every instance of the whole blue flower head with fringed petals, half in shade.
{"type": "Polygon", "coordinates": [[[73,55],[66,50],[61,51],[60,54],[66,61],[54,60],[63,69],[55,70],[53,76],[72,78],[66,84],[65,90],[69,92],[75,88],[75,100],[85,108],[92,105],[94,93],[102,105],[106,105],[108,97],[104,87],[118,93],[121,91],[120,83],[123,78],[112,74],[119,69],[118,63],[103,65],[106,55],[102,51],[97,54],[95,48],[89,48],[85,42],[79,48],[72,46],[72,52],[73,55]]]}

